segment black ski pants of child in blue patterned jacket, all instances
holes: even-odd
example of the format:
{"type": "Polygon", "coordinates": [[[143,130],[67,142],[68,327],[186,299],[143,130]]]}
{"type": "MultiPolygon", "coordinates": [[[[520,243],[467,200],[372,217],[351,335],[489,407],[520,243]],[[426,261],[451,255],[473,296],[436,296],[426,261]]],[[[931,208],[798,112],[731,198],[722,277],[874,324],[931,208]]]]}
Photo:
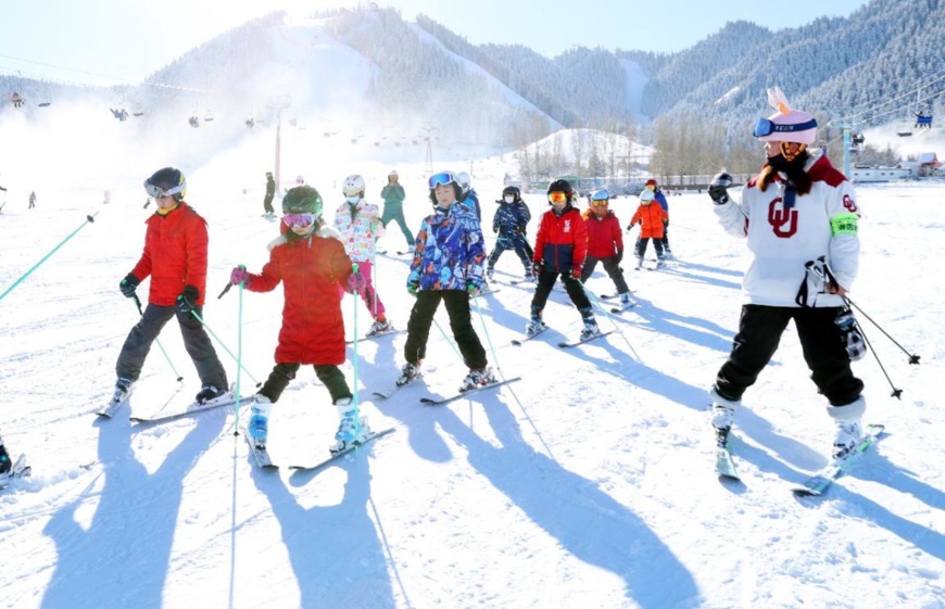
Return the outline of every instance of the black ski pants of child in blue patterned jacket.
{"type": "Polygon", "coordinates": [[[465,290],[421,290],[417,292],[417,302],[411,310],[407,321],[407,342],[404,344],[404,359],[418,364],[427,356],[427,340],[430,338],[430,326],[440,302],[446,305],[450,316],[450,329],[456,346],[463,355],[463,361],[469,368],[484,368],[486,350],[479,342],[479,335],[472,328],[472,316],[469,310],[469,292],[465,290]]]}

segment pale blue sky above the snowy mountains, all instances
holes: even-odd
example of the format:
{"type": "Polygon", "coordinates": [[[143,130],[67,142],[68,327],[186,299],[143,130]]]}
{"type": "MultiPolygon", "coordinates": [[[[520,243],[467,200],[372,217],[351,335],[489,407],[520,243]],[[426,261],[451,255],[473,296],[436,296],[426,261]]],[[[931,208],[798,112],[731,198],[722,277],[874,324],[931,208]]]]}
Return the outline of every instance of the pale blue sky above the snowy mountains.
{"type": "MultiPolygon", "coordinates": [[[[348,0],[5,0],[0,73],[88,85],[137,83],[189,49],[247,20],[285,8],[354,7],[348,0]],[[67,68],[67,69],[59,69],[67,68]]],[[[521,43],[554,56],[574,46],[669,52],[727,22],[782,29],[848,16],[867,0],[400,0],[474,43],[521,43]]]]}

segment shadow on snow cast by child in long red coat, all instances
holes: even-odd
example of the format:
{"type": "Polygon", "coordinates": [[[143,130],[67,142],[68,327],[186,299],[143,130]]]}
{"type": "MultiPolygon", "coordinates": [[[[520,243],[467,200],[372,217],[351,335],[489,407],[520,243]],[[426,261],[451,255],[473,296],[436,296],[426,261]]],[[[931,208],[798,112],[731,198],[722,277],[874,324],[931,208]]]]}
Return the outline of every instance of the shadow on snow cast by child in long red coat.
{"type": "MultiPolygon", "coordinates": [[[[304,508],[280,479],[253,472],[256,489],[268,497],[281,526],[282,543],[299,582],[300,607],[396,607],[387,558],[367,512],[368,460],[362,451],[345,461],[344,495],[333,506],[304,508]],[[357,579],[353,580],[355,573],[357,579]]],[[[313,475],[295,473],[292,480],[304,484],[313,475]]]]}

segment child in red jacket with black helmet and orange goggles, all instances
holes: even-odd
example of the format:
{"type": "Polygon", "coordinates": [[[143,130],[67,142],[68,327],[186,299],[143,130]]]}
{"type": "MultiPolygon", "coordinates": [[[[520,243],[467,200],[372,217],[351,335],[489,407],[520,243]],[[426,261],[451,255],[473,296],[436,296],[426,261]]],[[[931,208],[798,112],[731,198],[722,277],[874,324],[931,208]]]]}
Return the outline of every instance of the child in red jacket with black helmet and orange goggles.
{"type": "Polygon", "coordinates": [[[538,286],[531,300],[531,319],[525,327],[528,335],[546,328],[541,313],[558,277],[562,278],[571,302],[581,312],[584,321],[581,340],[601,333],[591,312],[591,302],[581,284],[581,271],[588,254],[588,229],[584,218],[574,205],[577,196],[568,180],[555,180],[547,187],[547,199],[552,208],[541,217],[534,241],[533,261],[538,286]]]}

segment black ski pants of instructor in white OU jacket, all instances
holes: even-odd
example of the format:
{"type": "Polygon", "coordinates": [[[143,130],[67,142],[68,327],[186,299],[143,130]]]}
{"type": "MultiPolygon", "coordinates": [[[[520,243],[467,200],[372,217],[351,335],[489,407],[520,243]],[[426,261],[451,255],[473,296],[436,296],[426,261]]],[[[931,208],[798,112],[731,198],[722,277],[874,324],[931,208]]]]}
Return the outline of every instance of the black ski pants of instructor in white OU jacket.
{"type": "Polygon", "coordinates": [[[732,353],[719,370],[716,391],[726,399],[741,399],[768,365],[788,322],[794,320],[810,379],[832,406],[844,406],[862,393],[853,376],[843,334],[834,323],[840,307],[797,308],[744,305],[732,353]]]}

